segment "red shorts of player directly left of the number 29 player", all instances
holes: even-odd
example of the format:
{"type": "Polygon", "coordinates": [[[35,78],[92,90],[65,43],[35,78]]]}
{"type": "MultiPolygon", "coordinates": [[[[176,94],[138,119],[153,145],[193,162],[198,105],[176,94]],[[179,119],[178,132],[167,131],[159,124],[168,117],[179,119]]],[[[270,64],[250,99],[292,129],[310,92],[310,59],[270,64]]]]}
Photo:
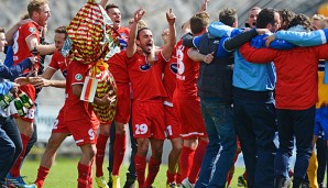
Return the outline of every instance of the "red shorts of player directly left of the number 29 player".
{"type": "Polygon", "coordinates": [[[128,123],[131,114],[131,98],[130,98],[130,85],[118,84],[118,104],[114,121],[119,123],[128,123]]]}

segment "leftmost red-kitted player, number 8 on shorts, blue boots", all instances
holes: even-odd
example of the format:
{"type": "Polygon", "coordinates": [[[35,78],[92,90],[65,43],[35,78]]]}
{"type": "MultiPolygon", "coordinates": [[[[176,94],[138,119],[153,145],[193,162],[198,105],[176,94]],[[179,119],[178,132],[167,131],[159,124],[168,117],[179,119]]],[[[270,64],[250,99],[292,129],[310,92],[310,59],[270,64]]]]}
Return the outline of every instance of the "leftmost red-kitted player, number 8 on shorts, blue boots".
{"type": "MultiPolygon", "coordinates": [[[[34,48],[41,55],[51,54],[55,51],[55,45],[39,45],[40,35],[43,26],[46,25],[47,20],[51,16],[50,7],[46,0],[32,0],[28,4],[29,16],[31,22],[28,22],[19,27],[14,34],[14,43],[12,46],[13,49],[13,65],[21,63],[23,59],[31,57],[31,51],[34,48]]],[[[40,63],[35,64],[35,69],[37,70],[40,63]]],[[[28,76],[29,70],[23,73],[23,76],[28,76]]],[[[29,98],[34,102],[35,101],[35,88],[32,85],[21,86],[20,89],[24,91],[29,98]]],[[[25,117],[15,115],[15,122],[19,126],[21,139],[23,143],[23,151],[20,157],[17,159],[15,164],[8,175],[9,180],[18,181],[18,186],[24,185],[20,176],[20,168],[22,161],[24,158],[26,145],[33,133],[33,120],[34,120],[34,109],[35,107],[28,110],[25,117]]]]}

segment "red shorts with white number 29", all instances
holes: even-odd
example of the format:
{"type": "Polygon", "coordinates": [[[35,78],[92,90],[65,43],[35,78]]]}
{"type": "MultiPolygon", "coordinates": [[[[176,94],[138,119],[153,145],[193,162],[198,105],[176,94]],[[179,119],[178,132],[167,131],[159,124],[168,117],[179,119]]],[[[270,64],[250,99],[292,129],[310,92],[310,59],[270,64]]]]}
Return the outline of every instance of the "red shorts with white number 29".
{"type": "Polygon", "coordinates": [[[132,104],[132,130],[134,139],[165,140],[164,107],[162,99],[132,104]]]}

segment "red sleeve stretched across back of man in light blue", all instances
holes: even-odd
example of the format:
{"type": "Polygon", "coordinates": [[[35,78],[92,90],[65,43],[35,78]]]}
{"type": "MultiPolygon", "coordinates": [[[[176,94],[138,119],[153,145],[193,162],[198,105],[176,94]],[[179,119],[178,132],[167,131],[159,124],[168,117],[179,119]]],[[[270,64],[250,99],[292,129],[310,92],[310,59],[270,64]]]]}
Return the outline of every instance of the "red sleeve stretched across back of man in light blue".
{"type": "Polygon", "coordinates": [[[240,53],[248,62],[255,64],[267,64],[277,56],[277,51],[270,48],[254,48],[247,43],[240,47],[240,53]]]}

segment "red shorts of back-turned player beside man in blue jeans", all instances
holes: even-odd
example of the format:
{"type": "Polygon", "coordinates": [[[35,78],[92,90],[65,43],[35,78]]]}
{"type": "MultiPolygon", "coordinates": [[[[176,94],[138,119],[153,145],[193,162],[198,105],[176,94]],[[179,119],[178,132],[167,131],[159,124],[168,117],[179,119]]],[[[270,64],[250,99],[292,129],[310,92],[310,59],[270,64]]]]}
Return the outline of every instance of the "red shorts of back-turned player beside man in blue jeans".
{"type": "Polygon", "coordinates": [[[176,117],[183,139],[207,136],[199,98],[181,97],[177,92],[174,92],[173,103],[176,108],[176,117]]]}

